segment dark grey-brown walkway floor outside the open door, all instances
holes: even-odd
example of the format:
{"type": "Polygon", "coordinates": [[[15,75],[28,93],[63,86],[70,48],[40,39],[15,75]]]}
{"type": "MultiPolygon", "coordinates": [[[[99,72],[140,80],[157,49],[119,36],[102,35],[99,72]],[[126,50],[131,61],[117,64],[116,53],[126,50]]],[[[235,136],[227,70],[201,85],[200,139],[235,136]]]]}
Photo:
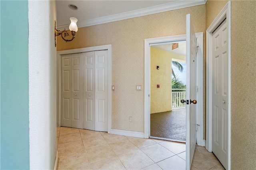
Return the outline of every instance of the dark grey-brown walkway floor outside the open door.
{"type": "Polygon", "coordinates": [[[150,136],[186,141],[186,109],[150,114],[150,136]]]}

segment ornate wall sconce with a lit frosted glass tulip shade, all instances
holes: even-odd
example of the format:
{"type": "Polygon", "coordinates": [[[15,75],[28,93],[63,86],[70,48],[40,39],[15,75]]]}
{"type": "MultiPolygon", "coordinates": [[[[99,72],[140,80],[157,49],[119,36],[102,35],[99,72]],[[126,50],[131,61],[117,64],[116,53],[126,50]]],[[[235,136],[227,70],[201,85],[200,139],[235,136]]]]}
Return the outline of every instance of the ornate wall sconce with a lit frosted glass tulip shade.
{"type": "Polygon", "coordinates": [[[56,21],[55,21],[55,47],[56,47],[56,36],[61,35],[62,39],[64,39],[64,41],[68,42],[68,41],[72,41],[76,35],[76,32],[78,30],[78,27],[76,25],[76,22],[78,21],[76,18],[71,17],[70,18],[70,25],[69,25],[69,30],[71,31],[72,34],[72,39],[65,39],[66,36],[69,36],[68,31],[66,31],[66,29],[64,29],[64,31],[59,31],[58,29],[56,29],[56,21]]]}

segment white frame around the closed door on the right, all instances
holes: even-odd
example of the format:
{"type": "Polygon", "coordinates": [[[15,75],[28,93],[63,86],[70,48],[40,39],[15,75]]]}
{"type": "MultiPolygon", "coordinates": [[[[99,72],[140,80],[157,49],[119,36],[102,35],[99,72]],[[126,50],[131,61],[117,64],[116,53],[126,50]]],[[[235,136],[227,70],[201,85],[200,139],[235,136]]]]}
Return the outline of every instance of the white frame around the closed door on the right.
{"type": "Polygon", "coordinates": [[[206,149],[212,152],[212,33],[222,23],[227,20],[228,27],[228,169],[230,169],[230,92],[231,92],[231,81],[230,81],[230,45],[231,45],[231,2],[224,6],[212,24],[206,30],[206,149]],[[208,113],[208,114],[207,114],[208,113]]]}

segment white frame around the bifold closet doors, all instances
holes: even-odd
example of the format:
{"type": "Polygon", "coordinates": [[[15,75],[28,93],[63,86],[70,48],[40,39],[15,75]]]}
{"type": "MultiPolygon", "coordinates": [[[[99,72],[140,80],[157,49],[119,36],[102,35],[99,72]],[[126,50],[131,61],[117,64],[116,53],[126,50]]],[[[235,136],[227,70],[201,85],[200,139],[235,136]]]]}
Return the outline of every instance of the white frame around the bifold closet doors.
{"type": "Polygon", "coordinates": [[[65,54],[74,54],[74,53],[85,53],[89,51],[100,51],[100,50],[108,50],[108,133],[111,133],[111,45],[100,45],[95,47],[86,47],[80,49],[71,49],[71,50],[63,50],[57,51],[57,126],[61,125],[61,55],[65,54]]]}

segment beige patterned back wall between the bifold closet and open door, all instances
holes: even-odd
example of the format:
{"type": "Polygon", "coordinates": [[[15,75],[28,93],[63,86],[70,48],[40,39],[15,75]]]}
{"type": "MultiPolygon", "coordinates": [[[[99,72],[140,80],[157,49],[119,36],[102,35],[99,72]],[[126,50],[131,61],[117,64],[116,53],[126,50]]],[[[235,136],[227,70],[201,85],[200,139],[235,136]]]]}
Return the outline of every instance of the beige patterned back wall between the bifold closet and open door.
{"type": "Polygon", "coordinates": [[[112,129],[144,132],[144,39],[185,34],[186,14],[196,32],[205,32],[205,5],[199,5],[79,28],[67,43],[57,37],[57,51],[112,44],[112,129]]]}

